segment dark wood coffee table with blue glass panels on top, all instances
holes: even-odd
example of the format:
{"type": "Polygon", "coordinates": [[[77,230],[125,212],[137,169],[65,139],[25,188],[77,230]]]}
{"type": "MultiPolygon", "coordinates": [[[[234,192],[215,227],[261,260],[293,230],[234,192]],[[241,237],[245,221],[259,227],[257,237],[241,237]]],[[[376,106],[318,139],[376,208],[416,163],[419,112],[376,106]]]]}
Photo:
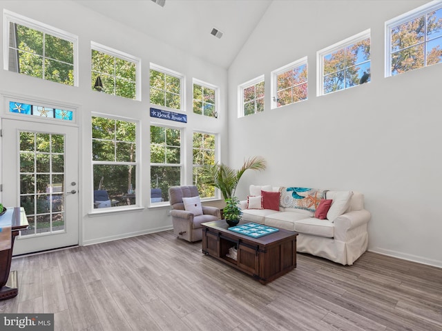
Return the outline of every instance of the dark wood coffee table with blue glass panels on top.
{"type": "MultiPolygon", "coordinates": [[[[249,222],[240,222],[240,224],[249,222]]],[[[296,268],[296,236],[298,232],[280,229],[260,238],[252,238],[228,230],[226,221],[202,223],[202,252],[239,269],[262,284],[296,268]],[[236,247],[237,259],[227,257],[236,247]]]]}

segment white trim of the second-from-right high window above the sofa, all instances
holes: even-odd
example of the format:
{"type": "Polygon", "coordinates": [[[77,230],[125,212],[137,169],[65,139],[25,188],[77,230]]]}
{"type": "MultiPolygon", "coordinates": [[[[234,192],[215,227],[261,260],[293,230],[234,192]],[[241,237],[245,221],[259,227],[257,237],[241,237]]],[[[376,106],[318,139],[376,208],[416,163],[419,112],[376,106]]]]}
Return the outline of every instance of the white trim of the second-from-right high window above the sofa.
{"type": "MultiPolygon", "coordinates": [[[[370,29],[367,29],[363,32],[359,32],[358,34],[354,34],[354,36],[349,37],[347,39],[344,39],[342,41],[338,41],[337,43],[334,43],[331,46],[328,46],[326,48],[323,48],[322,50],[318,50],[316,52],[316,97],[320,97],[324,94],[324,57],[325,55],[334,52],[335,50],[340,50],[341,48],[345,48],[347,46],[352,45],[353,43],[357,43],[358,41],[362,41],[364,39],[371,38],[370,37],[370,29]]],[[[370,44],[371,44],[370,39],[370,44]]],[[[370,61],[371,61],[371,54],[370,54],[370,61]]],[[[343,90],[347,90],[347,88],[344,88],[343,90]]],[[[343,90],[338,90],[343,91],[343,90]]]]}

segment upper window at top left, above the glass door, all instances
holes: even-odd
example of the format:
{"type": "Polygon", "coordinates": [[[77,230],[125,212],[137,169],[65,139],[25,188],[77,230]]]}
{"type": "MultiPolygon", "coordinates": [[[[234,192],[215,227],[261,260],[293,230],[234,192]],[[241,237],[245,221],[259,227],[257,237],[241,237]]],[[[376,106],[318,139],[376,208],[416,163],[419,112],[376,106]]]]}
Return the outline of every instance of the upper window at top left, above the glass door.
{"type": "Polygon", "coordinates": [[[78,37],[3,10],[3,68],[78,86],[78,37]]]}

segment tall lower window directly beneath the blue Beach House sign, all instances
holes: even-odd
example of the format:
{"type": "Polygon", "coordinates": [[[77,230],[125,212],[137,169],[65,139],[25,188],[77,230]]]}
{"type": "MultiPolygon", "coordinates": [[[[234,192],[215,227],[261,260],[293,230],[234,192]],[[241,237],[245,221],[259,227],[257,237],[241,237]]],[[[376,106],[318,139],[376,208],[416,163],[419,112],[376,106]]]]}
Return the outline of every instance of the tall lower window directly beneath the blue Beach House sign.
{"type": "Polygon", "coordinates": [[[181,184],[181,159],[181,130],[151,126],[151,195],[156,192],[161,201],[169,201],[169,187],[181,184]]]}

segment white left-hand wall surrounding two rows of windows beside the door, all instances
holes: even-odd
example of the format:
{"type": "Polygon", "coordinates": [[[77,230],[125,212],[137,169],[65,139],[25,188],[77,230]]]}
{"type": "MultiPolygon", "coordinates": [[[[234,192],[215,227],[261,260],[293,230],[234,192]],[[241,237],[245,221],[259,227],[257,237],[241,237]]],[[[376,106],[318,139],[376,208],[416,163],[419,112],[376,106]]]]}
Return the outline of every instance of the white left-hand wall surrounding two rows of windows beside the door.
{"type": "MultiPolygon", "coordinates": [[[[76,104],[80,117],[80,244],[97,243],[137,234],[155,232],[171,228],[169,207],[147,208],[149,180],[149,126],[153,123],[181,125],[186,134],[186,172],[187,183],[192,181],[192,137],[193,130],[220,133],[221,157],[227,157],[227,70],[213,66],[184,52],[168,46],[145,34],[131,30],[120,23],[107,19],[97,12],[71,1],[0,1],[1,5],[1,44],[3,45],[3,8],[21,14],[30,19],[49,24],[79,37],[79,87],[64,86],[23,74],[0,70],[0,91],[6,94],[23,94],[37,100],[57,101],[57,103],[76,104]],[[142,59],[142,101],[133,101],[109,94],[98,93],[90,88],[90,41],[121,50],[142,59]],[[186,77],[186,109],[188,123],[178,123],[151,119],[149,116],[148,84],[149,63],[155,63],[175,70],[186,77]],[[211,119],[193,114],[192,78],[200,79],[218,86],[220,93],[220,117],[211,119]],[[114,212],[90,217],[92,197],[90,114],[104,112],[140,121],[141,128],[141,164],[142,185],[137,192],[142,192],[142,205],[146,208],[133,212],[114,212]]],[[[105,3],[104,3],[105,6],[105,3]]],[[[0,55],[3,63],[3,52],[0,55]]],[[[214,202],[216,204],[216,202],[214,202]]],[[[213,205],[213,203],[212,203],[213,205]]]]}

